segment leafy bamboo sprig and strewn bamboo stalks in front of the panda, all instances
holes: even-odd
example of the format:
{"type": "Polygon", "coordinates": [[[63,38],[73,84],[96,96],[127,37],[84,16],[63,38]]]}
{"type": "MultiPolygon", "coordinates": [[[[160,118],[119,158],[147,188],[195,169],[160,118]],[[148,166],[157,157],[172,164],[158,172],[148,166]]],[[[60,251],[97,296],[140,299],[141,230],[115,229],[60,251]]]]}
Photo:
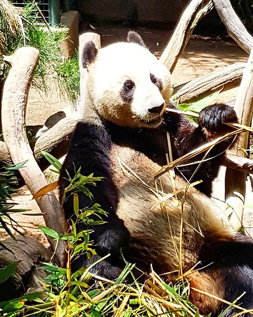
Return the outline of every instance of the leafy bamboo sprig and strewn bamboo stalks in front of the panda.
{"type": "MultiPolygon", "coordinates": [[[[44,152],[58,170],[60,163],[53,156],[44,152]]],[[[134,265],[126,263],[125,268],[115,281],[104,279],[96,285],[91,283],[91,267],[106,259],[109,255],[94,262],[90,267],[83,267],[71,272],[71,258],[86,253],[88,257],[96,255],[90,241],[91,227],[104,223],[105,212],[98,204],[91,208],[79,208],[78,194],[82,193],[92,199],[92,193],[87,188],[96,186],[101,178],[93,174],[88,177],[80,174],[78,169],[74,177],[68,174],[69,186],[64,198],[73,197],[76,216],[71,221],[72,230],[59,235],[54,230],[41,226],[40,229],[48,236],[59,240],[68,240],[68,263],[66,268],[57,267],[51,263],[43,263],[41,269],[48,271],[48,276],[42,282],[45,292],[26,294],[20,298],[0,303],[0,314],[6,317],[37,316],[37,317],[199,317],[198,309],[189,301],[189,283],[181,278],[176,284],[165,283],[155,272],[144,283],[137,280],[133,274],[134,265]],[[85,228],[80,232],[78,229],[85,228]],[[126,283],[130,276],[133,283],[126,283]],[[1,311],[2,309],[2,311],[1,311]]],[[[14,268],[14,266],[13,266],[14,268]]],[[[13,268],[5,268],[6,277],[11,276],[13,268]]],[[[3,271],[2,271],[3,272],[3,271]]],[[[96,276],[95,276],[96,278],[96,276]]],[[[1,271],[0,271],[1,280],[1,271]]],[[[98,280],[97,280],[98,281],[98,280]]]]}

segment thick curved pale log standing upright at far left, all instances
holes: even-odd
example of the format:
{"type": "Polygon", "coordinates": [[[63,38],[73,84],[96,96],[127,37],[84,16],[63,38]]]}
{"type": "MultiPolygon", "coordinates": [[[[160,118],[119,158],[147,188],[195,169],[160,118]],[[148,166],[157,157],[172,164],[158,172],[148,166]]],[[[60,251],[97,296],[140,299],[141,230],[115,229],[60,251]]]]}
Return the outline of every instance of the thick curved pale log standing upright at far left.
{"type": "MultiPolygon", "coordinates": [[[[38,63],[39,52],[32,47],[18,49],[5,60],[12,66],[6,79],[2,99],[3,135],[12,161],[26,162],[19,169],[28,189],[34,195],[41,187],[47,185],[43,172],[38,167],[29,146],[25,129],[25,112],[28,93],[31,86],[35,67],[38,63]]],[[[66,231],[66,222],[60,203],[53,192],[36,200],[44,216],[46,225],[59,234],[66,231]]],[[[66,242],[48,237],[55,250],[56,259],[61,265],[66,262],[66,242]]]]}

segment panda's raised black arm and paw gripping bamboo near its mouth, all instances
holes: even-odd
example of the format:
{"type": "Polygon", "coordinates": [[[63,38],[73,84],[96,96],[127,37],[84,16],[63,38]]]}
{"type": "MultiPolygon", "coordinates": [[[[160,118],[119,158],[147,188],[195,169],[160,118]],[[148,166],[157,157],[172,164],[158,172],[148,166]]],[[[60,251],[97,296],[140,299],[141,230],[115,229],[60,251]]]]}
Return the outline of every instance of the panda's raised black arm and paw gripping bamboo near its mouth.
{"type": "MultiPolygon", "coordinates": [[[[234,110],[225,104],[214,104],[199,113],[198,127],[195,127],[185,116],[166,113],[164,115],[166,129],[174,138],[177,157],[189,153],[193,149],[231,131],[223,122],[237,122],[234,110]],[[172,124],[173,122],[173,124],[172,124]],[[174,125],[174,126],[173,126],[174,125]]],[[[233,139],[216,145],[205,156],[205,153],[194,157],[191,161],[204,161],[199,164],[180,167],[179,171],[188,180],[202,180],[197,187],[206,195],[212,193],[212,182],[217,177],[225,151],[231,146],[233,139]],[[192,175],[194,174],[194,177],[192,175]]],[[[177,158],[176,157],[176,158],[177,158]]]]}

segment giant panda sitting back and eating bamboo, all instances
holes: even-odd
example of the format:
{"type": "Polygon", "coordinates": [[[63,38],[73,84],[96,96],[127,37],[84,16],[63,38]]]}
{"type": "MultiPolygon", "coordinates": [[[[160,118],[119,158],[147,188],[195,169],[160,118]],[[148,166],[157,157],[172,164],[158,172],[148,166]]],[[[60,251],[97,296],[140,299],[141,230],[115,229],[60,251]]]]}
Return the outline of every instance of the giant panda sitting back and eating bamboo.
{"type": "MultiPolygon", "coordinates": [[[[168,173],[154,182],[154,174],[166,164],[167,132],[173,159],[179,158],[230,131],[223,122],[237,121],[233,109],[225,104],[206,107],[199,114],[198,127],[185,116],[164,112],[171,96],[170,73],[133,31],[128,42],[99,51],[88,42],[82,63],[87,68],[85,115],[76,125],[61,169],[60,199],[66,217],[74,220],[73,197],[63,199],[69,185],[67,173],[72,177],[78,168],[83,175],[94,173],[103,179],[88,186],[92,199],[79,193],[79,207],[99,203],[107,217],[91,234],[97,256],[75,259],[72,269],[89,266],[108,254],[92,270],[109,279],[124,267],[122,255],[143,272],[152,264],[166,281],[194,267],[187,276],[190,299],[201,313],[219,315],[227,305],[215,296],[233,302],[243,292],[237,304],[253,308],[253,243],[231,228],[209,198],[232,140],[194,158],[204,158],[201,164],[178,168],[175,186],[168,173]],[[202,181],[197,188],[157,203],[156,191],[172,193],[174,187],[185,188],[196,180],[202,181]]],[[[230,308],[225,316],[236,312],[230,308]]]]}

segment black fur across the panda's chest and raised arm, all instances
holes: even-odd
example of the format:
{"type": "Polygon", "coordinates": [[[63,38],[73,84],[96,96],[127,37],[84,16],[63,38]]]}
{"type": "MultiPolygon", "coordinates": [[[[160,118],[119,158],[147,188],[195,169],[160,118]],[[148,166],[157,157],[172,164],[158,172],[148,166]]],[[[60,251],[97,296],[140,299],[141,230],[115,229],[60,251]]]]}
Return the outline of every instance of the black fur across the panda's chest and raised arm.
{"type": "MultiPolygon", "coordinates": [[[[225,113],[227,112],[227,117],[231,122],[235,122],[237,119],[235,112],[231,107],[226,105],[221,106],[225,108],[223,112],[216,111],[216,123],[218,128],[221,129],[222,126],[223,132],[226,133],[231,129],[222,123],[222,120],[225,120],[225,113]],[[234,117],[233,120],[232,117],[234,117]]],[[[214,105],[214,107],[216,109],[217,105],[214,105]]],[[[184,116],[172,113],[165,113],[163,116],[164,123],[156,129],[122,128],[111,122],[106,122],[106,126],[114,143],[128,146],[139,152],[142,152],[151,160],[162,166],[166,164],[166,132],[170,132],[172,138],[173,158],[177,159],[178,157],[183,156],[198,146],[208,142],[206,135],[202,131],[202,127],[206,127],[208,125],[208,113],[210,116],[214,116],[212,107],[207,107],[206,109],[202,110],[201,118],[204,118],[204,120],[201,122],[201,126],[197,128],[193,127],[189,120],[184,116]]],[[[210,132],[212,131],[216,130],[210,130],[210,132]]],[[[183,173],[184,177],[190,180],[196,171],[191,181],[194,182],[196,180],[202,180],[202,183],[197,185],[197,188],[204,194],[210,196],[212,193],[213,180],[218,175],[219,167],[225,155],[224,151],[230,146],[230,143],[224,142],[217,145],[212,151],[209,152],[206,157],[214,158],[201,163],[201,166],[197,171],[196,168],[198,164],[194,164],[181,167],[179,170],[176,170],[176,172],[179,175],[183,173]]],[[[202,158],[203,155],[200,155],[195,157],[194,161],[199,161],[202,158]]]]}

